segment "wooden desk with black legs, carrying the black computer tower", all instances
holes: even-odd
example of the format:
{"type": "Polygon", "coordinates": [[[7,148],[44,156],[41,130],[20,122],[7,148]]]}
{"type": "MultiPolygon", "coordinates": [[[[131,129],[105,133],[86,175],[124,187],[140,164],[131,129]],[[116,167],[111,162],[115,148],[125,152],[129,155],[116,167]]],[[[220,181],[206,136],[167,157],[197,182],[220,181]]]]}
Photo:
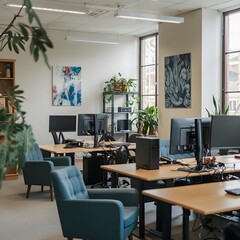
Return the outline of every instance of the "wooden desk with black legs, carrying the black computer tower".
{"type": "MultiPolygon", "coordinates": [[[[240,172],[240,159],[234,158],[233,155],[226,156],[218,156],[216,157],[218,162],[222,162],[225,164],[226,169],[223,173],[234,173],[240,172]]],[[[194,158],[183,159],[182,163],[189,164],[190,166],[194,166],[196,164],[196,160],[194,158]]],[[[197,176],[207,176],[216,174],[216,171],[210,172],[201,172],[201,173],[186,173],[182,171],[177,171],[177,168],[181,166],[179,165],[162,165],[157,170],[145,170],[145,169],[136,169],[136,164],[118,164],[118,165],[103,165],[103,168],[106,171],[112,172],[112,186],[116,186],[116,175],[121,174],[127,177],[135,178],[139,181],[140,192],[139,192],[139,237],[144,238],[145,231],[145,206],[144,206],[144,196],[141,191],[145,189],[144,184],[148,181],[157,181],[157,180],[165,180],[168,186],[168,180],[176,178],[185,178],[185,177],[197,177],[197,176]]],[[[220,172],[221,174],[222,172],[220,172]]],[[[157,230],[160,230],[160,227],[157,223],[157,230]]]]}

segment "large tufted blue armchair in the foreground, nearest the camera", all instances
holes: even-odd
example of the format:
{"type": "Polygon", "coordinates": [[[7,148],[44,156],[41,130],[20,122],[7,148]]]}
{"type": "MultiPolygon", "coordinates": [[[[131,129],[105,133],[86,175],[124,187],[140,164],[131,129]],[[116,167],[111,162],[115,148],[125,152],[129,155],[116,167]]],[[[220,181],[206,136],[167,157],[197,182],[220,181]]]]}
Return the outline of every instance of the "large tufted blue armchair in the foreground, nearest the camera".
{"type": "Polygon", "coordinates": [[[76,166],[51,173],[58,214],[68,240],[124,240],[137,227],[136,189],[87,189],[76,166]]]}

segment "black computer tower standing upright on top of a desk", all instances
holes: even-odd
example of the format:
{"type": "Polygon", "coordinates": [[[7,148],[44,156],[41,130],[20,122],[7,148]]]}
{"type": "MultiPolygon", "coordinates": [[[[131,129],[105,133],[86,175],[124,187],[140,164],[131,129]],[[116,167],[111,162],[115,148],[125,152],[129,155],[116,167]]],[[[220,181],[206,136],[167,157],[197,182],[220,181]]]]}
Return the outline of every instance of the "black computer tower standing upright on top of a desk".
{"type": "Polygon", "coordinates": [[[159,168],[159,138],[136,138],[136,167],[148,170],[159,168]]]}

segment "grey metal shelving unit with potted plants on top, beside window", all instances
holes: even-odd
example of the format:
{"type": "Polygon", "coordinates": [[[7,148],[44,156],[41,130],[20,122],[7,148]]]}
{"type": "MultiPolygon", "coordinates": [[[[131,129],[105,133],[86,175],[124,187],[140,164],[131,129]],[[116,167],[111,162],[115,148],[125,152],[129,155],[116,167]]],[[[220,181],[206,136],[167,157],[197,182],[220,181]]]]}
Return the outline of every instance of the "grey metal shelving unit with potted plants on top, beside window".
{"type": "MultiPolygon", "coordinates": [[[[116,134],[125,134],[126,140],[129,133],[133,133],[131,130],[117,129],[117,120],[130,120],[129,115],[134,113],[134,109],[129,105],[130,98],[138,96],[138,92],[103,92],[103,113],[109,114],[110,117],[110,133],[114,137],[116,134]],[[131,111],[127,111],[131,107],[131,111]],[[119,108],[125,108],[121,109],[119,108]]],[[[135,104],[135,108],[138,108],[135,104]]]]}

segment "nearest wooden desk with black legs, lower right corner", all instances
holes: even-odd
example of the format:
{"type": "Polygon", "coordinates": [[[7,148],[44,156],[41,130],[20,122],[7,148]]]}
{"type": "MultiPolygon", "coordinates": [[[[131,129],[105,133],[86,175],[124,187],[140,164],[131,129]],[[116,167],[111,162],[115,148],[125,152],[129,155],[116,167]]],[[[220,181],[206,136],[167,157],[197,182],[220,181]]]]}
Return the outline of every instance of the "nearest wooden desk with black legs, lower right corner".
{"type": "Polygon", "coordinates": [[[161,214],[164,215],[163,240],[171,239],[171,205],[183,208],[182,239],[188,240],[190,210],[203,215],[239,210],[240,196],[233,196],[224,191],[226,188],[235,187],[240,187],[240,180],[144,190],[142,193],[160,201],[164,209],[164,213],[161,214]]]}

